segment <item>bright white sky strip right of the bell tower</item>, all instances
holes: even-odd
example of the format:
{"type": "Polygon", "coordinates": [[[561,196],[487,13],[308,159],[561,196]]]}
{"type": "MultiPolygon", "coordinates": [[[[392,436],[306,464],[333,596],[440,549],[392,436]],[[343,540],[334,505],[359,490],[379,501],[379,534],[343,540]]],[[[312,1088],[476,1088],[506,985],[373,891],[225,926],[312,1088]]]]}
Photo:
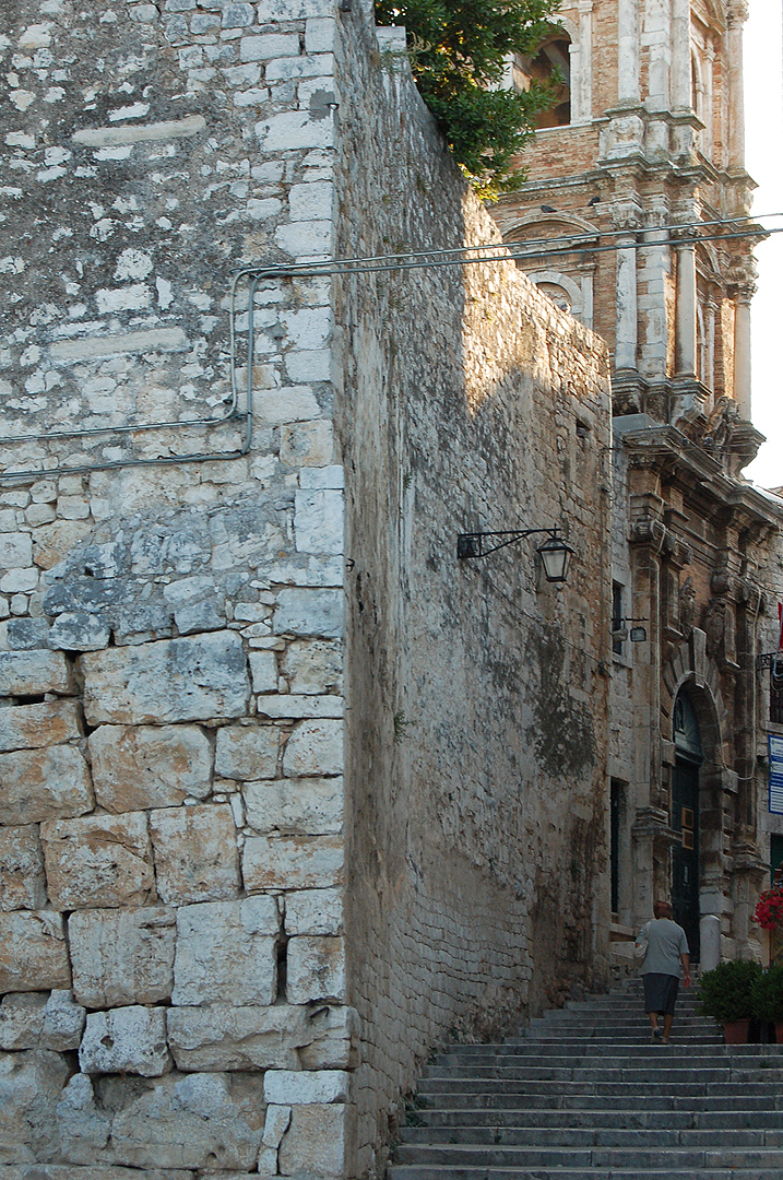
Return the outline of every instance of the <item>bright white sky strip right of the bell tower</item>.
{"type": "MultiPolygon", "coordinates": [[[[758,184],[755,214],[783,215],[783,0],[750,0],[745,25],[745,160],[758,184]]],[[[764,221],[783,229],[783,216],[764,221]]],[[[756,250],[752,303],[752,415],[768,441],[745,476],[783,486],[783,234],[756,250]]]]}

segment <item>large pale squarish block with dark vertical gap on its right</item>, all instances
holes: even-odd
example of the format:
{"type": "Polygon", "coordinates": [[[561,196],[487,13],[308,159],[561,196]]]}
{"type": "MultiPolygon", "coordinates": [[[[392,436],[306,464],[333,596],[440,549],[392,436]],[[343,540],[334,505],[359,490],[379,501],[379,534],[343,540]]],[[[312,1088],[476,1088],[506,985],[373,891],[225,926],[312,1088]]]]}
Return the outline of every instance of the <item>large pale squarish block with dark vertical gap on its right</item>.
{"type": "Polygon", "coordinates": [[[271,1004],[277,991],[278,929],[271,897],[178,910],[172,1002],[271,1004]]]}

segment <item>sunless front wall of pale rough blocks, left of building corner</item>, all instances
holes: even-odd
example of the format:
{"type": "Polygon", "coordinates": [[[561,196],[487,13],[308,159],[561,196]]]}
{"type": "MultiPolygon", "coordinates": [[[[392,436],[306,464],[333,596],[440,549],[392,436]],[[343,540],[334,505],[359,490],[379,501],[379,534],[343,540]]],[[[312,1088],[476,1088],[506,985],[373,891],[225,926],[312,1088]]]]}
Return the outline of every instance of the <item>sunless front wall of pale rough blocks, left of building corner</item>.
{"type": "Polygon", "coordinates": [[[335,15],[2,15],[0,1162],[340,1175],[335,15]]]}

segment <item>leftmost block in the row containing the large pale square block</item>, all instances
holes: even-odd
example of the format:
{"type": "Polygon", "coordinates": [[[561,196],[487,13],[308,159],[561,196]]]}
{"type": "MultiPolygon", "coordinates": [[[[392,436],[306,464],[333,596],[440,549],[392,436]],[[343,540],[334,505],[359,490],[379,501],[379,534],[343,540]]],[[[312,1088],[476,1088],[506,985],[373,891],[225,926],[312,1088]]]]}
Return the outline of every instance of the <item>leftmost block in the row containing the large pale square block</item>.
{"type": "Polygon", "coordinates": [[[0,913],[0,992],[71,986],[62,918],[42,910],[0,913]]]}

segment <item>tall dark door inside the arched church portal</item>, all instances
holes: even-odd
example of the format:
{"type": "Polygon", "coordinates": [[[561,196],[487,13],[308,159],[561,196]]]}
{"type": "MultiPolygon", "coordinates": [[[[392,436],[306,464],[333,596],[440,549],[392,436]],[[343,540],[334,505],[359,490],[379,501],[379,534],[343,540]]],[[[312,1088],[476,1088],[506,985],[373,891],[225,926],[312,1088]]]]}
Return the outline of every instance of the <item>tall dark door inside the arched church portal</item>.
{"type": "Polygon", "coordinates": [[[699,961],[699,767],[702,738],[687,696],[675,701],[675,774],[671,826],[682,837],[672,851],[671,900],[675,920],[685,931],[691,961],[699,961]]]}

